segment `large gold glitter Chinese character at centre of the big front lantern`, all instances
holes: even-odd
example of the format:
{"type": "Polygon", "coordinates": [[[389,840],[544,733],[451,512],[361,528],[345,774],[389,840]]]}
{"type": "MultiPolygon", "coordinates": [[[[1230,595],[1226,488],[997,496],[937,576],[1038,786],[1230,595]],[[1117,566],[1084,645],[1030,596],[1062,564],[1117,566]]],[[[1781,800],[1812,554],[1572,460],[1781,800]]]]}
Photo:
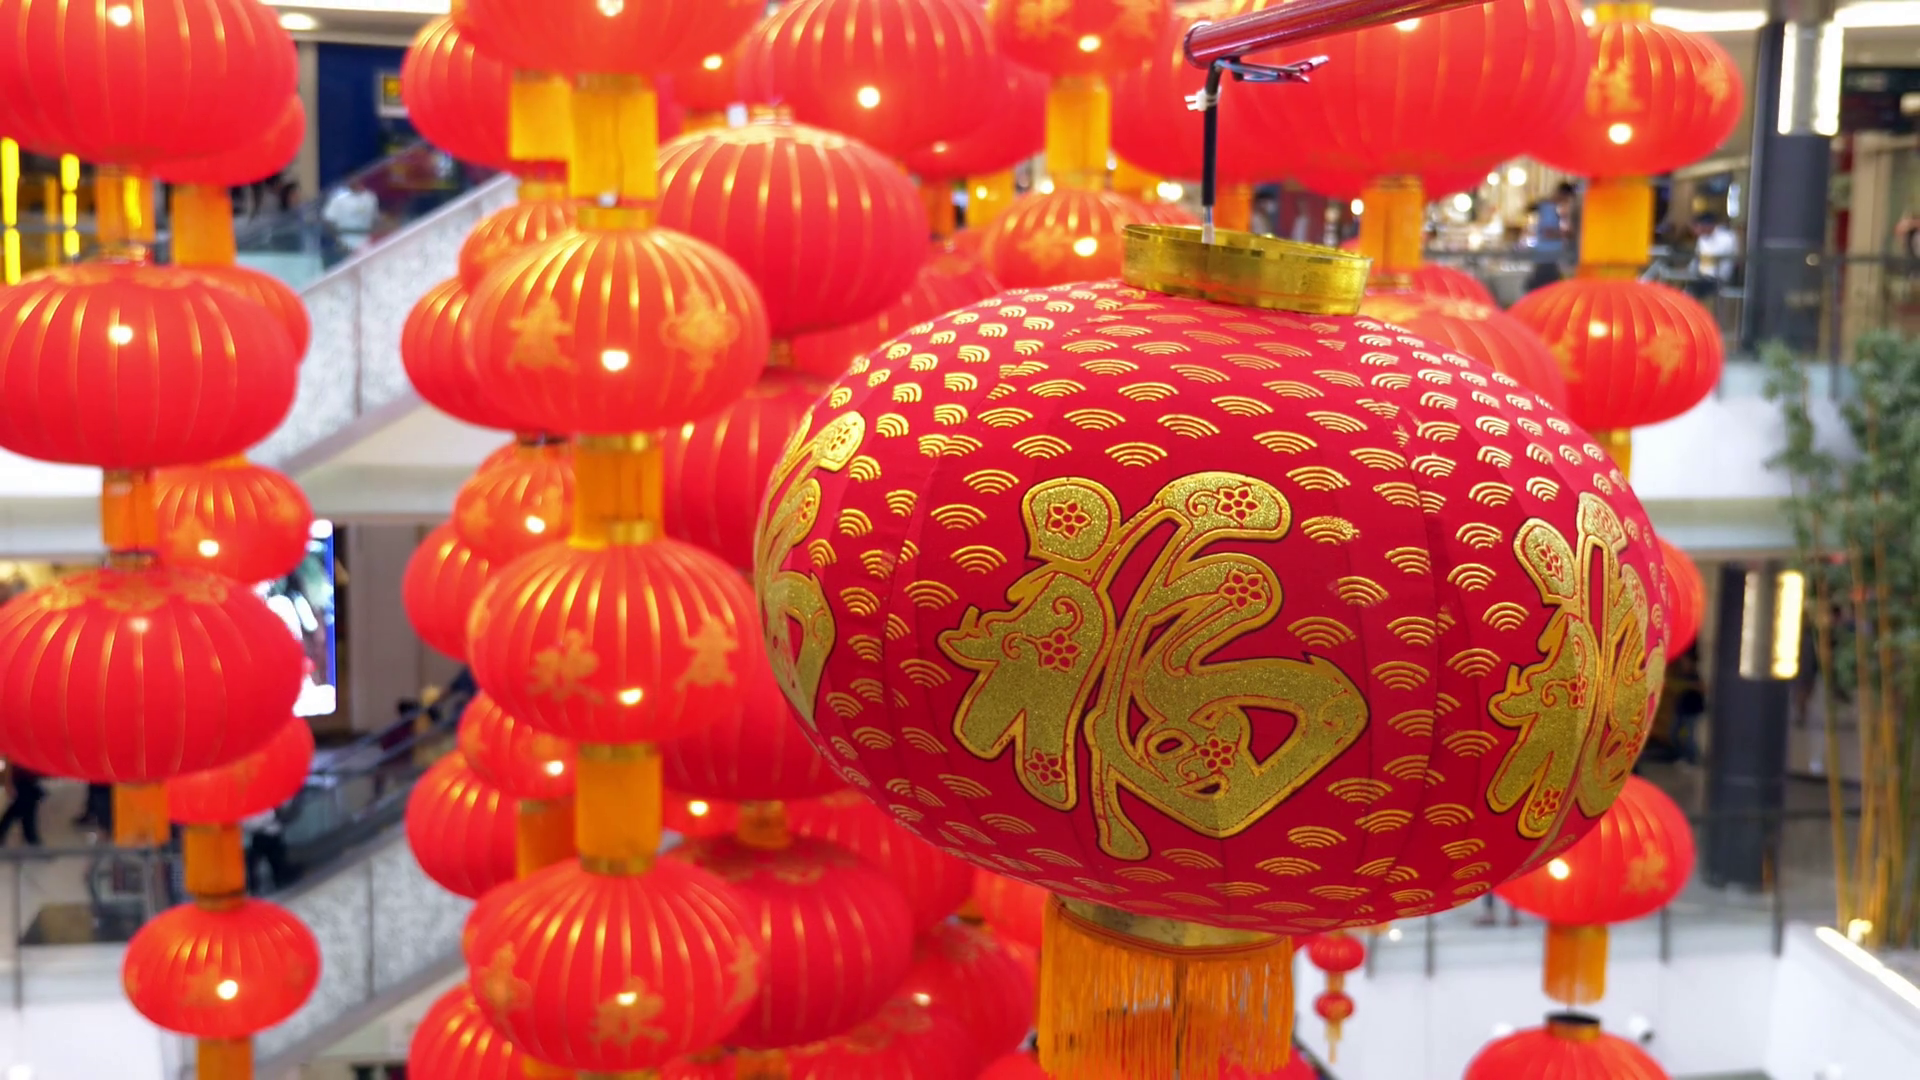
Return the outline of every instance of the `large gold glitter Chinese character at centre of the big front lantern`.
{"type": "Polygon", "coordinates": [[[1008,588],[1012,607],[968,609],[941,651],[973,671],[954,734],[981,759],[1014,749],[1021,786],[1071,809],[1081,799],[1077,738],[1092,749],[1087,796],[1100,849],[1146,859],[1127,819],[1127,790],[1202,836],[1235,836],[1354,746],[1367,701],[1331,661],[1256,657],[1210,663],[1221,648],[1271,623],[1281,582],[1223,540],[1279,542],[1286,500],[1235,473],[1183,477],[1121,517],[1104,486],[1046,480],[1023,500],[1029,557],[1041,567],[1008,588]],[[1148,542],[1171,527],[1158,552],[1148,542]],[[1135,557],[1150,565],[1131,596],[1114,592],[1135,557]],[[1294,719],[1267,755],[1252,748],[1250,709],[1294,719]],[[1131,717],[1148,717],[1135,734],[1131,717]]]}

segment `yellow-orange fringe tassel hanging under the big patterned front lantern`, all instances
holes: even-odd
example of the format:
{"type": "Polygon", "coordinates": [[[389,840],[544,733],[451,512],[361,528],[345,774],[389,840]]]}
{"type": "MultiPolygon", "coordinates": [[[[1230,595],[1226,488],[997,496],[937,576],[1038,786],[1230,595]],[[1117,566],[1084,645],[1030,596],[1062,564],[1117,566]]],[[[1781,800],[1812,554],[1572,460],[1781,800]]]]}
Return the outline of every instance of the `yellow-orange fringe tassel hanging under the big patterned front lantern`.
{"type": "Polygon", "coordinates": [[[1288,938],[1054,897],[1041,951],[1041,1067],[1054,1080],[1219,1080],[1292,1051],[1288,938]]]}

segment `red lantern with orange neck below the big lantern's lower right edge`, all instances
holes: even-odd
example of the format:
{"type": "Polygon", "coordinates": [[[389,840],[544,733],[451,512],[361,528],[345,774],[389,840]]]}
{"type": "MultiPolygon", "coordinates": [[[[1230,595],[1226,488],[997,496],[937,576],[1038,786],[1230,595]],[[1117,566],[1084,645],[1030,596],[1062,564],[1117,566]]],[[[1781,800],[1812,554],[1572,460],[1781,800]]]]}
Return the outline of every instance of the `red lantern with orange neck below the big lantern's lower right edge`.
{"type": "Polygon", "coordinates": [[[1548,997],[1588,1005],[1607,992],[1607,924],[1653,915],[1692,876],[1686,815],[1665,792],[1628,776],[1599,828],[1498,894],[1548,920],[1548,997]]]}

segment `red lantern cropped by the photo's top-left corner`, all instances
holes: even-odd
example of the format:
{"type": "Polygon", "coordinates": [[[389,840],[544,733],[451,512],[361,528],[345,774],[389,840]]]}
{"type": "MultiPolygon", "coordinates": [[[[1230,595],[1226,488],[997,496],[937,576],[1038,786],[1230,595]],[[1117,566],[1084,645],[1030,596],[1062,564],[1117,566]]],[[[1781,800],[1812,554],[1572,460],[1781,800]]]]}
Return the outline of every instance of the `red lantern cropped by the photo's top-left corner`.
{"type": "Polygon", "coordinates": [[[294,40],[253,0],[6,0],[0,25],[0,100],[86,161],[221,154],[267,133],[296,92],[294,40]]]}

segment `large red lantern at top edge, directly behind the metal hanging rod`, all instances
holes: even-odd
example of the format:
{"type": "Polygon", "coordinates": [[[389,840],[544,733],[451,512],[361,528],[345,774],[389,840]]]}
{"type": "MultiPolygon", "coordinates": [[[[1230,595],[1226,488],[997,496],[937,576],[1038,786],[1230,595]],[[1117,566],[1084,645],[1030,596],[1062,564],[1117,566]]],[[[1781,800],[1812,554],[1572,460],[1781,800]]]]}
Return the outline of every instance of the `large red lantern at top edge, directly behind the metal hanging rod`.
{"type": "MultiPolygon", "coordinates": [[[[1235,12],[1275,2],[1235,0],[1235,12]]],[[[1329,58],[1311,83],[1240,96],[1271,138],[1311,146],[1313,169],[1367,181],[1473,163],[1486,177],[1572,117],[1594,46],[1578,0],[1524,0],[1384,23],[1256,60],[1308,56],[1329,58]]]]}

